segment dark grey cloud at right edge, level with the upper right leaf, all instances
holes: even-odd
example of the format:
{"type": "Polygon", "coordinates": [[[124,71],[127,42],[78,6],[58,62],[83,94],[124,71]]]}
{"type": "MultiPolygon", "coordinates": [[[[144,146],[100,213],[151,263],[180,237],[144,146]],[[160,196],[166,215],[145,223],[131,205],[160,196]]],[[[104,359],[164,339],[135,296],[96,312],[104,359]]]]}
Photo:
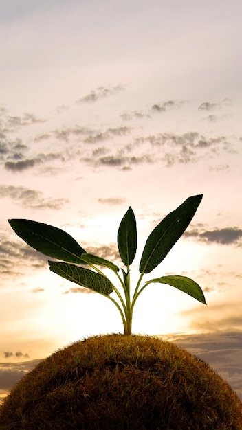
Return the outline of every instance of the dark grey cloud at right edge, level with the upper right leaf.
{"type": "Polygon", "coordinates": [[[202,242],[218,243],[220,245],[239,245],[242,238],[242,230],[238,227],[225,227],[222,229],[214,229],[210,231],[185,231],[184,236],[196,238],[202,242]]]}

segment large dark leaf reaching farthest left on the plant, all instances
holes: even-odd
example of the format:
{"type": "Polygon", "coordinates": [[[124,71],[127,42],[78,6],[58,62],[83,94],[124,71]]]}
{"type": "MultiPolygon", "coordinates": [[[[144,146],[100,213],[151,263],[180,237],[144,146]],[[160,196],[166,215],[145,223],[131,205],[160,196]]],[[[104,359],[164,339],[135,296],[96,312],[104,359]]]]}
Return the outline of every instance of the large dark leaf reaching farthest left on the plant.
{"type": "Polygon", "coordinates": [[[21,239],[46,256],[85,264],[81,258],[86,252],[85,249],[65,231],[52,225],[24,219],[12,219],[8,222],[21,239]]]}

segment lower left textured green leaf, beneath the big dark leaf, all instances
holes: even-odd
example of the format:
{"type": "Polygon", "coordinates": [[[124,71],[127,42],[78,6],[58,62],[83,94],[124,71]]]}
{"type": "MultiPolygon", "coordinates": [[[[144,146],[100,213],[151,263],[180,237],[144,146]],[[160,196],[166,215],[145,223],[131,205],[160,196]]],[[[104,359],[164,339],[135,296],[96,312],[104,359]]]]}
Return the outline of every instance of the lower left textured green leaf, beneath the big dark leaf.
{"type": "Polygon", "coordinates": [[[85,288],[89,288],[102,295],[109,295],[113,292],[111,281],[106,276],[100,275],[100,273],[69,263],[49,261],[49,264],[52,272],[57,273],[57,275],[62,276],[68,281],[85,286],[85,288]]]}

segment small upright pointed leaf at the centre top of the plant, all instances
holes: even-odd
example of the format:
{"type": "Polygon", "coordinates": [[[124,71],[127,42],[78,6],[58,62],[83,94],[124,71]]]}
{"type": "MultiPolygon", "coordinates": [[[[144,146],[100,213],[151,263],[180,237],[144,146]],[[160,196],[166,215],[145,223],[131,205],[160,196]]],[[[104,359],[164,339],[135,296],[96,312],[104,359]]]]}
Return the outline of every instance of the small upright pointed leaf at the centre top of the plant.
{"type": "Polygon", "coordinates": [[[137,229],[133,209],[129,207],[118,228],[118,249],[125,266],[133,262],[137,249],[137,229]]]}

